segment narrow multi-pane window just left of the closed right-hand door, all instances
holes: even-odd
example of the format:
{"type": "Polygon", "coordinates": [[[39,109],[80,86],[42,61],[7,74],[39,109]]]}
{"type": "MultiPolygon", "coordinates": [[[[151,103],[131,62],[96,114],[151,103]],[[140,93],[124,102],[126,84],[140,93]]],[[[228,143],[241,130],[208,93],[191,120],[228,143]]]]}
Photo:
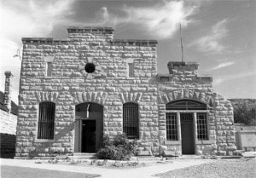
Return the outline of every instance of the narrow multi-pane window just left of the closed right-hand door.
{"type": "Polygon", "coordinates": [[[177,141],[177,113],[166,113],[167,141],[177,141]]]}

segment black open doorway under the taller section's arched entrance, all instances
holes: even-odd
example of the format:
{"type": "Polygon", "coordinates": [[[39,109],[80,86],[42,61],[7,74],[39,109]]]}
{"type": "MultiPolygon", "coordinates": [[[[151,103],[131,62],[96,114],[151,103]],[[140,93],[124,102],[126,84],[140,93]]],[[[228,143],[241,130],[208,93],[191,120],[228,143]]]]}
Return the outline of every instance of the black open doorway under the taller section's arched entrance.
{"type": "Polygon", "coordinates": [[[81,151],[96,152],[96,120],[83,121],[81,151]]]}

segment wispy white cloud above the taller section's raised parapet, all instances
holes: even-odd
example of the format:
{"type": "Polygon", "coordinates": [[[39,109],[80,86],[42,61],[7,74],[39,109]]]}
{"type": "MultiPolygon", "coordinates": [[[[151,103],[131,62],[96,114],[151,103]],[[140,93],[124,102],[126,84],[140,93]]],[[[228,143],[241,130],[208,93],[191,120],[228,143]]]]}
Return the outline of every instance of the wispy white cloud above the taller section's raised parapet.
{"type": "Polygon", "coordinates": [[[121,16],[119,14],[113,14],[106,7],[103,7],[99,11],[95,21],[96,25],[141,26],[151,37],[164,39],[172,37],[177,32],[180,23],[182,23],[182,26],[188,26],[192,21],[189,20],[189,16],[195,14],[196,9],[196,6],[185,6],[182,1],[164,1],[151,7],[137,8],[125,6],[119,9],[121,14],[123,14],[121,16]]]}

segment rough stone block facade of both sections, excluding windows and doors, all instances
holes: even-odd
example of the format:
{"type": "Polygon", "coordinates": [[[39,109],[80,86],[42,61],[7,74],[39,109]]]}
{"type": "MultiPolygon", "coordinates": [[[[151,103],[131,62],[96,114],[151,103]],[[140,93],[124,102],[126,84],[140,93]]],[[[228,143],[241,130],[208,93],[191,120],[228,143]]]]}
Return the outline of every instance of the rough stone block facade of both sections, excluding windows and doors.
{"type": "Polygon", "coordinates": [[[73,154],[81,103],[103,106],[102,134],[110,137],[123,133],[123,105],[136,103],[139,148],[158,155],[167,146],[182,153],[181,141],[166,141],[166,104],[184,99],[207,106],[209,139],[197,141],[195,133],[196,154],[236,149],[230,101],[213,92],[212,78],[197,77],[197,64],[171,62],[170,74],[158,75],[154,40],[117,40],[112,28],[70,27],[67,40],[22,42],[16,157],[73,154]],[[54,136],[48,140],[38,139],[39,104],[45,101],[55,103],[54,136]]]}

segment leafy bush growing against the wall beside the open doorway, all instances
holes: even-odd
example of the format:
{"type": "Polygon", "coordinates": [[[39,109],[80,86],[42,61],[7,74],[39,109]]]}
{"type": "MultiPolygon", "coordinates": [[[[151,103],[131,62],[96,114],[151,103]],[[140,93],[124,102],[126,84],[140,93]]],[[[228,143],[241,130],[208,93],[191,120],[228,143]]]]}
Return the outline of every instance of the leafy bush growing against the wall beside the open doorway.
{"type": "Polygon", "coordinates": [[[129,160],[134,152],[135,141],[130,142],[126,135],[116,135],[113,141],[108,136],[103,137],[102,148],[96,153],[96,158],[129,160]]]}

